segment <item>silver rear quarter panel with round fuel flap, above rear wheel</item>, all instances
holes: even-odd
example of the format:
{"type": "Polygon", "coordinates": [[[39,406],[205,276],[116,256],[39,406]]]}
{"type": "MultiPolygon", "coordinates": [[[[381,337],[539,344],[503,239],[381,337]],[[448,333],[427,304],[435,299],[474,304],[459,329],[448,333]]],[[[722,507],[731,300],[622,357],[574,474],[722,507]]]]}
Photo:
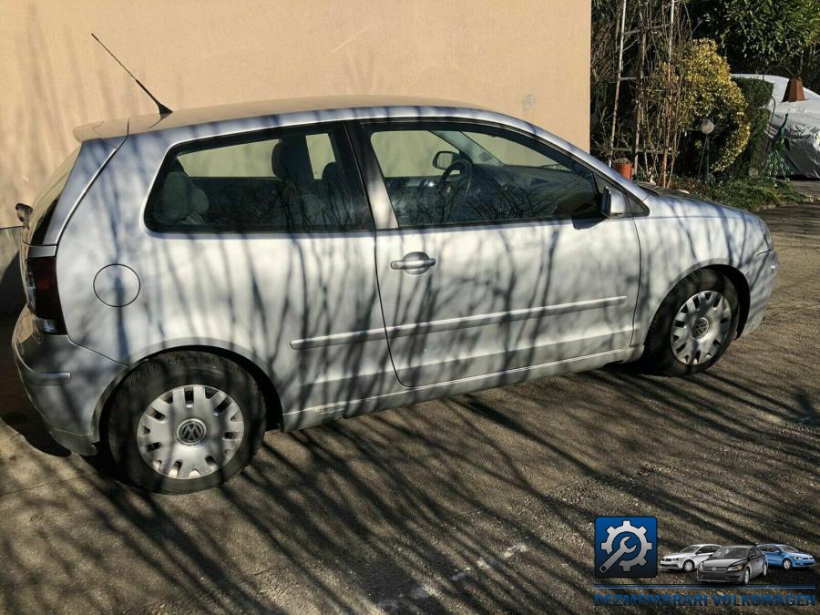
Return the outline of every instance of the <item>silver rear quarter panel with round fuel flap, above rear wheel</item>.
{"type": "Polygon", "coordinates": [[[391,392],[373,233],[148,231],[142,211],[165,152],[208,136],[207,127],[174,133],[128,138],[68,223],[57,277],[72,341],[122,364],[183,346],[222,348],[271,376],[285,412],[391,392]],[[122,307],[94,290],[97,272],[114,263],[139,279],[136,299],[122,307]],[[381,335],[362,343],[292,347],[373,330],[381,335]]]}

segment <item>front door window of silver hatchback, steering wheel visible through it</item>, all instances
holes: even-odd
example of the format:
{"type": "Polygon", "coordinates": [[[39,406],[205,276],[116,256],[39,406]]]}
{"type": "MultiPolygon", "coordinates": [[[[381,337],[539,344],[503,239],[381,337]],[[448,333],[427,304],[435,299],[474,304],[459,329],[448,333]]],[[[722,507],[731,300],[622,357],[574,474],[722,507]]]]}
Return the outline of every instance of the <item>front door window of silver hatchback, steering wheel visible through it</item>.
{"type": "Polygon", "coordinates": [[[365,125],[400,227],[600,217],[591,170],[515,131],[365,125]]]}

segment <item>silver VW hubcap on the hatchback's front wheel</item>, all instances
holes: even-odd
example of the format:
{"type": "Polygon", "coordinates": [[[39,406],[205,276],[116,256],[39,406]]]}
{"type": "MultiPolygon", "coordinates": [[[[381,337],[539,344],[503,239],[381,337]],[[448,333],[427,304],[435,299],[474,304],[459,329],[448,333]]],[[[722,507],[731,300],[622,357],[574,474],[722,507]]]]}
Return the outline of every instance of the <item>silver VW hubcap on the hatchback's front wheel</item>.
{"type": "Polygon", "coordinates": [[[715,291],[692,295],[672,320],[672,354],[682,364],[701,364],[716,354],[729,336],[732,306],[715,291]]]}

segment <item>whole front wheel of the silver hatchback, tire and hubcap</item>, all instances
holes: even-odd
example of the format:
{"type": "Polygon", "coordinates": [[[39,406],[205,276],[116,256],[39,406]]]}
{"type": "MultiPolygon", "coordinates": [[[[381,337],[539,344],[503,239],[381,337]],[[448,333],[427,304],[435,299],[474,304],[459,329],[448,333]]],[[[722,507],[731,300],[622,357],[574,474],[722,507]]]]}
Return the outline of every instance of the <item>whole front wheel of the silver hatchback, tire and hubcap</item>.
{"type": "Polygon", "coordinates": [[[696,374],[721,358],[736,333],[740,303],[718,272],[692,272],[675,286],[652,320],[644,364],[667,375],[696,374]]]}

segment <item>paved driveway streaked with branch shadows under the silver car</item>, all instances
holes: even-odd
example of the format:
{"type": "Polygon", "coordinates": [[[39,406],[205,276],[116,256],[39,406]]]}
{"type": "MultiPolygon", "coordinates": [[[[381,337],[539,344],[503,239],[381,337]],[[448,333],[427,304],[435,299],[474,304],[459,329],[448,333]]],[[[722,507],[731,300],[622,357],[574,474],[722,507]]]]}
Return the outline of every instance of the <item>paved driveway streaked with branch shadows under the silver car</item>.
{"type": "Polygon", "coordinates": [[[249,470],[189,497],[140,495],[51,444],[4,344],[0,610],[582,612],[600,514],[657,517],[661,552],[820,555],[820,205],[764,218],[774,302],[708,374],[605,369],[271,433],[249,470]]]}

